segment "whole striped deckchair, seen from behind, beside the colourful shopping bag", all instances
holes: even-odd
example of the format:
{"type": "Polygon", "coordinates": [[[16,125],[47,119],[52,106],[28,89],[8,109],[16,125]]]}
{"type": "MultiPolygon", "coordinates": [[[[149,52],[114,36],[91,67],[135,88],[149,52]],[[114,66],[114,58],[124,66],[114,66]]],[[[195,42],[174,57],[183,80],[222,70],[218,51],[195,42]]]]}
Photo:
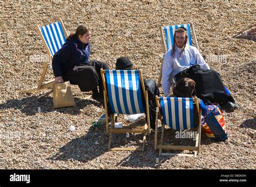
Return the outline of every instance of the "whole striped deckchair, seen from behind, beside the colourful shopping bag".
{"type": "MultiPolygon", "coordinates": [[[[194,150],[193,156],[196,156],[197,151],[200,150],[200,137],[201,137],[201,111],[199,111],[199,104],[197,98],[181,98],[181,97],[157,97],[157,118],[160,114],[160,119],[163,125],[161,134],[161,143],[157,145],[157,132],[155,134],[155,149],[159,150],[159,155],[182,155],[192,156],[191,154],[172,154],[162,153],[162,149],[175,149],[175,150],[194,150]],[[194,106],[196,103],[198,110],[199,124],[194,124],[194,106]],[[159,110],[160,109],[160,110],[159,110]],[[198,131],[196,135],[196,146],[166,146],[163,145],[164,129],[165,125],[178,130],[181,133],[182,130],[189,130],[190,128],[198,125],[198,131]]],[[[156,121],[156,127],[157,127],[156,121]]],[[[187,132],[186,132],[187,133],[187,132]]],[[[190,133],[190,132],[188,132],[190,133]]],[[[194,132],[196,133],[196,132],[194,132]]],[[[181,136],[180,136],[181,137],[181,136]]]]}

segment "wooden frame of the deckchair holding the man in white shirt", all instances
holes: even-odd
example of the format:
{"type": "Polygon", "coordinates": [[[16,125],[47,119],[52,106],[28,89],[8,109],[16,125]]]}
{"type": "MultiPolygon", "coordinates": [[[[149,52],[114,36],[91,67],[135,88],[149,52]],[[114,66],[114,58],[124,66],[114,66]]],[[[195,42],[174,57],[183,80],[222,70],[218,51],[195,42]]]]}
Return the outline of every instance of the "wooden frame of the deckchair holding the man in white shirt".
{"type": "MultiPolygon", "coordinates": [[[[199,46],[198,46],[198,42],[197,42],[197,35],[196,35],[196,32],[194,31],[194,25],[192,22],[190,23],[190,28],[191,28],[193,39],[194,39],[194,45],[199,50],[199,46]]],[[[164,26],[160,26],[160,33],[161,33],[161,41],[162,41],[162,45],[163,45],[163,49],[164,49],[163,51],[165,54],[167,52],[167,45],[166,45],[166,40],[165,40],[166,38],[165,38],[165,34],[164,34],[164,26]]],[[[164,61],[164,57],[163,57],[163,61],[164,61]]],[[[163,61],[161,62],[161,70],[160,70],[160,74],[159,74],[158,81],[157,81],[158,88],[161,87],[163,61]]]]}

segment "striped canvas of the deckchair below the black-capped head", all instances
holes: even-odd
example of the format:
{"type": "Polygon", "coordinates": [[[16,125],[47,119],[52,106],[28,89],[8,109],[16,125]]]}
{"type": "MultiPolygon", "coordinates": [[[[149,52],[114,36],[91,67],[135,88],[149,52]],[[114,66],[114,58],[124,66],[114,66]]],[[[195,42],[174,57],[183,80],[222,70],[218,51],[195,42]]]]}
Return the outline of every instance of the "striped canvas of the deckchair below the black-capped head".
{"type": "Polygon", "coordinates": [[[138,70],[105,70],[109,103],[113,113],[144,113],[138,70]]]}

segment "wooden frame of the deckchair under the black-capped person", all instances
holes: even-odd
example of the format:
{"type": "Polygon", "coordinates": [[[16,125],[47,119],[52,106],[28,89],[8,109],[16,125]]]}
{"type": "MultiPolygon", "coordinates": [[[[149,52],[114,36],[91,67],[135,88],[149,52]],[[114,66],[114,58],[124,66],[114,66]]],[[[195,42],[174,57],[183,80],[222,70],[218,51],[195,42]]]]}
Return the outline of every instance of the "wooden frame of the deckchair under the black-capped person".
{"type": "Polygon", "coordinates": [[[104,107],[105,107],[105,120],[106,120],[106,133],[109,134],[109,144],[108,150],[142,150],[145,149],[145,142],[146,142],[146,133],[150,134],[150,116],[149,116],[149,100],[147,96],[147,91],[145,90],[142,72],[139,70],[139,78],[140,83],[142,84],[143,95],[146,103],[146,113],[147,113],[147,124],[144,126],[127,126],[126,128],[114,128],[114,118],[113,114],[110,115],[111,117],[111,125],[109,126],[109,115],[107,113],[107,103],[109,103],[109,98],[107,96],[107,88],[106,88],[106,81],[104,74],[106,73],[105,70],[100,69],[100,73],[102,74],[103,86],[104,86],[104,107]],[[113,133],[143,133],[143,146],[141,147],[115,147],[111,148],[111,140],[113,133]]]}

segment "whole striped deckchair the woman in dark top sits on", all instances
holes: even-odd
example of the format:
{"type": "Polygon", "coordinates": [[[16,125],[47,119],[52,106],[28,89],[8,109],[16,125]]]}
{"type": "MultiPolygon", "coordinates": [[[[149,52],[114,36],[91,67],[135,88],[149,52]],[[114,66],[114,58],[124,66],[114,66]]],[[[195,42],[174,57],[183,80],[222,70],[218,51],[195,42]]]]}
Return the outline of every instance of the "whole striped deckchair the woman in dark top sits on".
{"type": "Polygon", "coordinates": [[[41,78],[39,80],[37,87],[34,87],[29,90],[23,90],[22,91],[23,93],[33,92],[33,91],[52,87],[52,83],[55,82],[55,80],[51,80],[43,83],[46,70],[48,68],[49,62],[52,60],[53,55],[63,46],[63,44],[66,41],[66,38],[68,37],[68,33],[66,32],[66,29],[60,18],[59,18],[59,21],[56,23],[42,26],[42,27],[39,27],[37,25],[36,28],[46,48],[48,57],[46,58],[43,73],[41,75],[41,78]]]}

